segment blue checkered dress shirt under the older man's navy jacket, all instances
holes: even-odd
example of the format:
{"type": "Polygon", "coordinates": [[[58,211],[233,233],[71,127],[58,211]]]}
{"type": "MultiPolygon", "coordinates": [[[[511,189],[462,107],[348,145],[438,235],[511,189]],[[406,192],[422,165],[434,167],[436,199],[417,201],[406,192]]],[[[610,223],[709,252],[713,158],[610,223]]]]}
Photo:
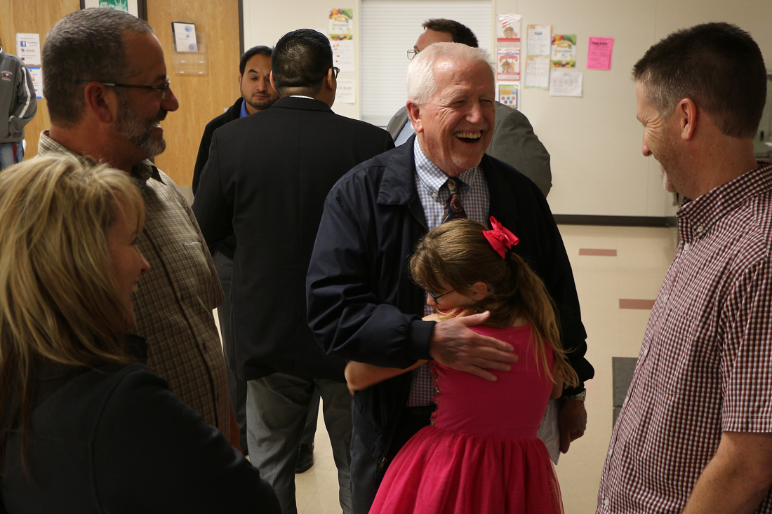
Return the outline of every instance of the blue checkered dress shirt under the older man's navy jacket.
{"type": "MultiPolygon", "coordinates": [[[[415,188],[418,190],[418,198],[421,199],[421,205],[424,208],[427,228],[432,230],[442,224],[442,217],[445,215],[445,201],[450,196],[450,189],[445,184],[448,181],[448,175],[428,160],[421,150],[421,145],[418,144],[418,137],[415,138],[413,154],[417,172],[415,188]]],[[[479,166],[472,167],[460,174],[459,179],[464,184],[461,188],[461,205],[464,206],[467,218],[487,226],[490,195],[482,170],[479,166]]],[[[425,316],[432,312],[434,307],[424,306],[425,316]]],[[[427,363],[412,371],[408,407],[430,405],[433,395],[432,374],[429,372],[427,363]]]]}

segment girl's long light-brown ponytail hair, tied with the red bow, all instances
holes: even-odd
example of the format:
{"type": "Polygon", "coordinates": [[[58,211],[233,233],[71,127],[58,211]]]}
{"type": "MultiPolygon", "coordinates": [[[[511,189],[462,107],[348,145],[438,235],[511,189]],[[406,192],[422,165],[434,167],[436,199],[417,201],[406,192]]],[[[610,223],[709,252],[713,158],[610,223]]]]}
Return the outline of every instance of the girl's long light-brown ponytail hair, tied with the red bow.
{"type": "Polygon", "coordinates": [[[560,344],[555,309],[544,282],[531,271],[516,253],[502,259],[482,231],[487,228],[470,219],[448,221],[428,232],[418,242],[410,259],[413,282],[423,289],[439,291],[449,286],[464,295],[473,296],[472,285],[488,286],[485,298],[465,306],[464,314],[490,311],[485,326],[513,326],[519,318],[530,323],[531,343],[547,375],[545,343],[552,348],[554,369],[560,370],[566,384],[577,386],[579,377],[568,365],[560,344]]]}

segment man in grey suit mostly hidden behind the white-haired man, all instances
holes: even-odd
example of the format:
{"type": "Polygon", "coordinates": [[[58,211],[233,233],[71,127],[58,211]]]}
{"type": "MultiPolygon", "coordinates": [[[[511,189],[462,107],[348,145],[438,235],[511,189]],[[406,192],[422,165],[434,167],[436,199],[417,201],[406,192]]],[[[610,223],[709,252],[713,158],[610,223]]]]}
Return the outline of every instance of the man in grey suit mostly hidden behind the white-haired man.
{"type": "MultiPolygon", "coordinates": [[[[425,29],[415,42],[415,53],[421,52],[435,42],[457,42],[477,48],[477,37],[469,27],[452,19],[429,19],[422,25],[425,29]]],[[[408,117],[408,110],[402,107],[391,117],[387,129],[394,144],[401,145],[414,133],[408,117]]],[[[539,186],[546,197],[552,188],[550,154],[536,134],[533,134],[528,118],[519,110],[496,101],[496,122],[493,139],[486,153],[499,161],[514,167],[539,186]]]]}

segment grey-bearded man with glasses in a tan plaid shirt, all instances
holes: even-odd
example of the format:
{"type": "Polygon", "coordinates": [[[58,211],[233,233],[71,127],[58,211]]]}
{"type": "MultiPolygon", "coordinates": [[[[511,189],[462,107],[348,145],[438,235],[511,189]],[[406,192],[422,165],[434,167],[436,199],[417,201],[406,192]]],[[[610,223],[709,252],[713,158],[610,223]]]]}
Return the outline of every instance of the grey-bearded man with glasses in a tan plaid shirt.
{"type": "Polygon", "coordinates": [[[166,148],[161,121],[177,110],[164,52],[146,22],[106,8],[59,20],[42,52],[51,128],[39,154],[71,154],[130,174],[142,193],[137,245],[150,263],[133,294],[147,365],[238,448],[225,360],[212,316],[222,288],[195,217],[174,181],[150,161],[166,148]]]}

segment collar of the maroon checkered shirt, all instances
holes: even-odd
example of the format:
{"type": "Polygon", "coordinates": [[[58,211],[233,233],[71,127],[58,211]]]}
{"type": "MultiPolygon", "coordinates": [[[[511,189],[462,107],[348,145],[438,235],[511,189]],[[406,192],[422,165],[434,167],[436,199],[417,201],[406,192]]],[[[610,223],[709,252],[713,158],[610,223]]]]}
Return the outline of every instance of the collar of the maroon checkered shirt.
{"type": "Polygon", "coordinates": [[[713,188],[706,194],[682,205],[675,213],[679,221],[679,236],[690,242],[702,237],[730,211],[753,196],[772,189],[772,163],[758,161],[753,171],[740,175],[733,181],[713,188]]]}

